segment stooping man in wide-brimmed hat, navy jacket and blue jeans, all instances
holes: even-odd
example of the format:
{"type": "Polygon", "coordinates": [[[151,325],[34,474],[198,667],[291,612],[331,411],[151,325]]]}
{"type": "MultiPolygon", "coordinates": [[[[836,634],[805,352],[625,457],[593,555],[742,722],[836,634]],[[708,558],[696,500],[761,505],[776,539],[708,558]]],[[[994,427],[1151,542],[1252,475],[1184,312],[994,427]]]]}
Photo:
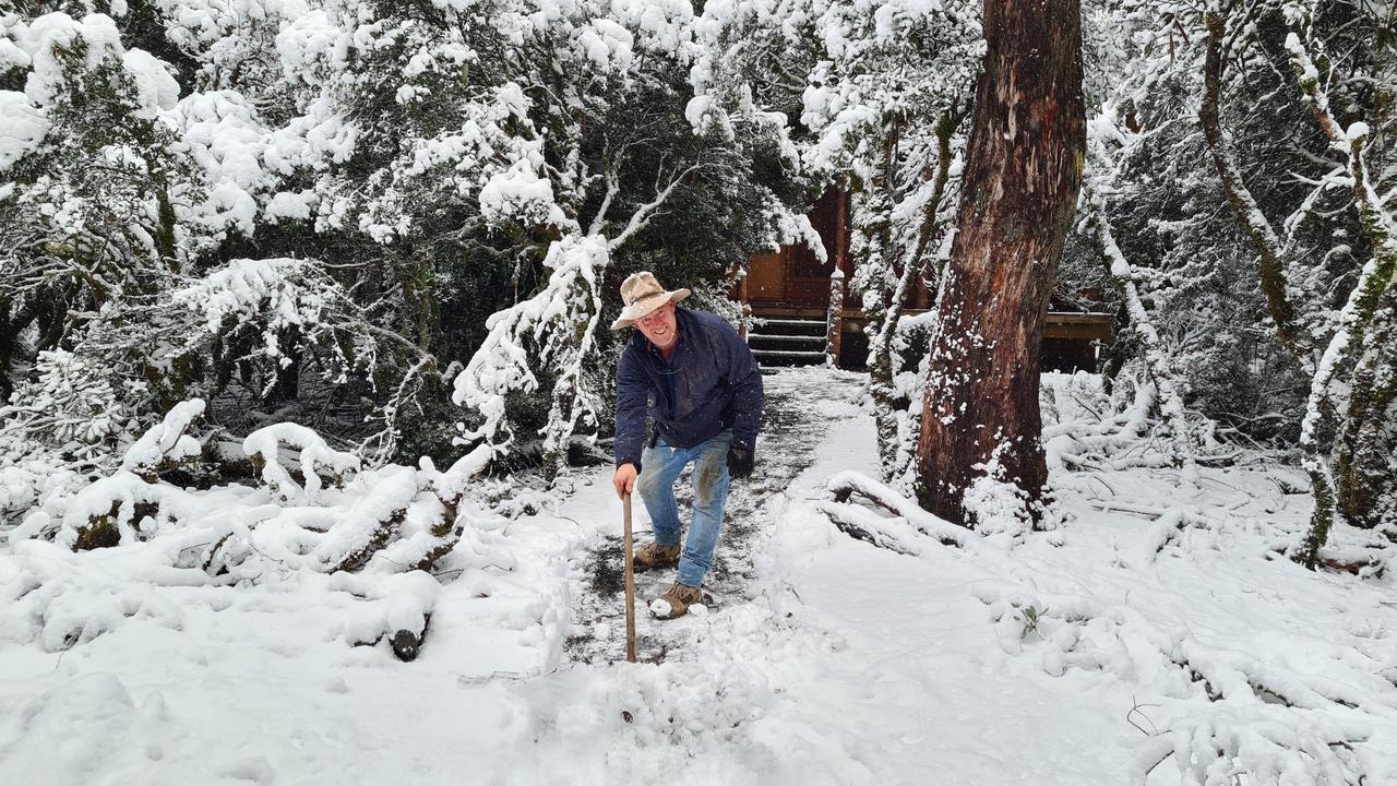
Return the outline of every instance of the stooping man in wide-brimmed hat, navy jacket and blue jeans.
{"type": "Polygon", "coordinates": [[[634,324],[637,331],[616,368],[613,483],[617,495],[640,490],[654,524],[655,541],[636,550],[636,569],[679,565],[675,585],[650,606],[655,617],[673,620],[703,599],[728,478],[752,474],[761,421],[761,369],[747,343],[722,317],[675,305],[689,290],[666,291],[652,273],[641,271],[622,283],[620,296],[624,308],[612,330],[634,324]],[[655,418],[650,446],[647,410],[655,418]],[[693,520],[680,548],[675,481],[690,463],[693,520]]]}

